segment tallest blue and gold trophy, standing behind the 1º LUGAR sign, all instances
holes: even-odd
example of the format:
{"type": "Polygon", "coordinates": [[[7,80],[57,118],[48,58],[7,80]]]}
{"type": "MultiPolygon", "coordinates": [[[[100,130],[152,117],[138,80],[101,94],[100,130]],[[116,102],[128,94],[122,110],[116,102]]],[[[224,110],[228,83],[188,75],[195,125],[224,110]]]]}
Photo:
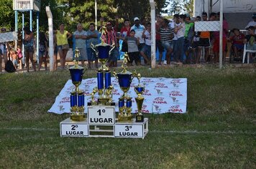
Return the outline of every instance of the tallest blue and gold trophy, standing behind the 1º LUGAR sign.
{"type": "Polygon", "coordinates": [[[101,28],[101,43],[93,45],[91,43],[91,49],[96,53],[96,57],[101,62],[101,67],[99,67],[97,72],[97,87],[93,88],[93,92],[91,93],[91,104],[98,105],[104,104],[109,105],[112,101],[112,90],[111,86],[111,72],[109,71],[109,67],[106,66],[106,62],[109,60],[109,55],[111,51],[114,49],[114,44],[109,45],[104,42],[104,38],[106,36],[106,27],[101,28]],[[94,95],[96,93],[99,94],[98,100],[95,100],[94,95]]]}

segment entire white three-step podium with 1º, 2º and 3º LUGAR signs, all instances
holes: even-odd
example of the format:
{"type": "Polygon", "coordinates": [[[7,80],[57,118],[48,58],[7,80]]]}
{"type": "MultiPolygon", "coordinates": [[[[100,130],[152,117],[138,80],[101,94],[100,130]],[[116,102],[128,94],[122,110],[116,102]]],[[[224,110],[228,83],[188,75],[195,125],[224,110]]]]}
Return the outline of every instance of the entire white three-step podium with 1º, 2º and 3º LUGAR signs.
{"type": "Polygon", "coordinates": [[[114,105],[88,106],[87,118],[74,122],[70,118],[60,122],[61,137],[123,137],[142,138],[147,135],[148,118],[144,122],[118,122],[114,105]]]}

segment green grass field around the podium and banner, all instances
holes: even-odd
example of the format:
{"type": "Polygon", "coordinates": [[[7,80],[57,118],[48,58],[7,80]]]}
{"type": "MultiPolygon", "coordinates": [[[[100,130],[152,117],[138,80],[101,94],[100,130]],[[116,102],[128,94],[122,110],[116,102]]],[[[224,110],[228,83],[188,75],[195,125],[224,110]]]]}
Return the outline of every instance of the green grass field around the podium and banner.
{"type": "Polygon", "coordinates": [[[138,67],[188,78],[188,113],[147,115],[145,140],[60,137],[69,115],[47,110],[69,72],[0,74],[0,168],[256,168],[255,70],[138,67]]]}

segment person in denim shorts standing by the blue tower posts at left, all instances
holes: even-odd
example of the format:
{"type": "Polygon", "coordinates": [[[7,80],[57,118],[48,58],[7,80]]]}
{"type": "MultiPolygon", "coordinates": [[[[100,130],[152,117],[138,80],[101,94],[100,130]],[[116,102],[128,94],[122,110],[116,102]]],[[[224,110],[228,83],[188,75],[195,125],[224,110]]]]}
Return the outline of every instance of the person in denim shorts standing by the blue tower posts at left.
{"type": "Polygon", "coordinates": [[[35,62],[33,59],[33,55],[34,55],[34,34],[33,32],[31,32],[29,30],[29,27],[24,27],[24,39],[23,39],[23,43],[24,43],[24,54],[26,57],[26,67],[27,67],[27,72],[29,72],[29,59],[30,62],[32,62],[32,67],[34,69],[34,71],[36,71],[35,69],[35,62]]]}

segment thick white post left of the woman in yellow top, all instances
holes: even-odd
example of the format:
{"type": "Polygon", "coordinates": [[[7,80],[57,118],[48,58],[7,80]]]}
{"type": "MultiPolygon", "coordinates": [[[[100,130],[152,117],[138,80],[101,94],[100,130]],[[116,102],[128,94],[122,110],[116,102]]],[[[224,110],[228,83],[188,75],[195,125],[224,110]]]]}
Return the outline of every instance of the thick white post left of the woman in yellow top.
{"type": "MultiPolygon", "coordinates": [[[[50,71],[54,70],[54,62],[53,62],[53,24],[52,24],[52,11],[50,11],[50,6],[45,7],[45,11],[48,17],[48,26],[49,26],[49,57],[50,57],[50,71]]],[[[56,61],[57,62],[57,61],[56,61]]]]}

